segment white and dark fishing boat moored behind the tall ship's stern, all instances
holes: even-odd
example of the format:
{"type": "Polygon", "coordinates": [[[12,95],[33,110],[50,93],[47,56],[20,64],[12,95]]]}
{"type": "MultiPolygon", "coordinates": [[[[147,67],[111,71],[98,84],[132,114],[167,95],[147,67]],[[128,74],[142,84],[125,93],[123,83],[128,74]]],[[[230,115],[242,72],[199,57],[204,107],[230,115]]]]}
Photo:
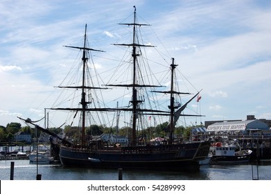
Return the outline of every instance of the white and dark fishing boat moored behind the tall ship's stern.
{"type": "Polygon", "coordinates": [[[252,154],[252,150],[239,150],[237,145],[228,145],[216,142],[211,146],[210,164],[240,164],[248,162],[252,154]]]}

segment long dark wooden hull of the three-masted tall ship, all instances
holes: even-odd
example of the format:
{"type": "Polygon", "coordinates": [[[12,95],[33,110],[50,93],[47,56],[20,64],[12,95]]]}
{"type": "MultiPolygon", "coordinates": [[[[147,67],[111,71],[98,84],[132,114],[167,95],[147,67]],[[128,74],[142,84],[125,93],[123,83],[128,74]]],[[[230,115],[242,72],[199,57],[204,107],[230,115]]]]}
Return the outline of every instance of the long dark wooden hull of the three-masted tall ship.
{"type": "Polygon", "coordinates": [[[123,168],[153,170],[199,170],[210,143],[193,142],[107,150],[86,150],[62,146],[63,166],[82,168],[123,168]]]}

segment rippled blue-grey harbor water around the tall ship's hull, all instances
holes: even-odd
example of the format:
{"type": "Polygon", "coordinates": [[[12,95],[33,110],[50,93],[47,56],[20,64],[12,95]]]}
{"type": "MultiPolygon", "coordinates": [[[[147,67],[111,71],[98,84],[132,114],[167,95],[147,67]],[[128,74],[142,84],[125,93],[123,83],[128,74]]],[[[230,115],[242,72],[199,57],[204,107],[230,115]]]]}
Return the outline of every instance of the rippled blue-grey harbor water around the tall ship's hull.
{"type": "MultiPolygon", "coordinates": [[[[0,161],[0,179],[10,179],[11,160],[0,161]]],[[[259,165],[204,165],[198,172],[123,170],[123,180],[271,180],[271,160],[259,165]]],[[[60,164],[36,165],[29,160],[14,161],[14,180],[117,180],[118,169],[65,168],[60,164]]]]}

